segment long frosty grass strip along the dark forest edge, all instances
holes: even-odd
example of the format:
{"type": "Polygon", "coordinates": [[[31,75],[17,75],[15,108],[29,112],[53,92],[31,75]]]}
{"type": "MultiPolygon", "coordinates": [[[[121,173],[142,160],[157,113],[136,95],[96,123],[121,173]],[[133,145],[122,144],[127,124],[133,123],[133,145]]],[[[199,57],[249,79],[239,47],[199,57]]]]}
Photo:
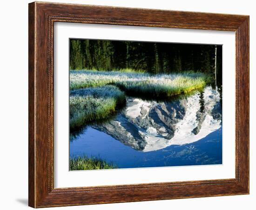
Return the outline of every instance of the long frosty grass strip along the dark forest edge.
{"type": "Polygon", "coordinates": [[[131,94],[171,97],[203,88],[208,80],[202,73],[157,74],[135,72],[70,71],[70,89],[116,85],[131,94]]]}

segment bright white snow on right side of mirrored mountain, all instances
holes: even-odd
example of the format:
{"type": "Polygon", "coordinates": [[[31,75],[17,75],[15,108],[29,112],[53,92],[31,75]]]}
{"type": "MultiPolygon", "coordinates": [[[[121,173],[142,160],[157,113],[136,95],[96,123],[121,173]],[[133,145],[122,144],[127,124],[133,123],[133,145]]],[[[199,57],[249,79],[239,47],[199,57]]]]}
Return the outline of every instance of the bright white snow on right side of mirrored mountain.
{"type": "MultiPolygon", "coordinates": [[[[182,145],[193,143],[206,137],[211,132],[219,129],[221,127],[221,120],[213,119],[213,117],[209,115],[214,105],[216,105],[216,102],[220,100],[219,93],[216,93],[216,91],[213,90],[211,87],[207,87],[204,91],[204,100],[206,116],[204,121],[202,122],[200,131],[196,135],[192,133],[192,131],[198,124],[196,121],[196,112],[200,109],[200,104],[199,96],[197,94],[188,98],[185,116],[175,125],[176,130],[174,133],[174,137],[170,140],[162,137],[167,136],[168,133],[163,133],[159,135],[156,129],[154,130],[153,127],[149,127],[146,132],[139,131],[141,137],[144,138],[147,142],[143,151],[147,152],[160,150],[172,144],[182,145]]],[[[159,129],[159,131],[166,130],[162,127],[159,129]]]]}

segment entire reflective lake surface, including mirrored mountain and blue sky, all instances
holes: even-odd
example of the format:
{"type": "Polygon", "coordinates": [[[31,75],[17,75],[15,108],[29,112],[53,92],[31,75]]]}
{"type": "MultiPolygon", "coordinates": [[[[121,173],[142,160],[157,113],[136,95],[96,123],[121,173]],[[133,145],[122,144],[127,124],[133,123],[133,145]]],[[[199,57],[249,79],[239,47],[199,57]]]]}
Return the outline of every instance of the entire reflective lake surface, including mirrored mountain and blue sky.
{"type": "Polygon", "coordinates": [[[118,168],[222,164],[221,104],[211,86],[166,102],[128,98],[114,118],[70,140],[70,157],[99,157],[118,168]]]}

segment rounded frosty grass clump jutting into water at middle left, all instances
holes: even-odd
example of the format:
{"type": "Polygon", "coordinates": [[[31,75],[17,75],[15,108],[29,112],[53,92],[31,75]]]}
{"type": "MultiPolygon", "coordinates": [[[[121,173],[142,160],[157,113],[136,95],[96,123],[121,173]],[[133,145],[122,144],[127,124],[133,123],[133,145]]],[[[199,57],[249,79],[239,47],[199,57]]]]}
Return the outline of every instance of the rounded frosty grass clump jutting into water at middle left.
{"type": "Polygon", "coordinates": [[[69,97],[70,131],[88,122],[108,118],[125,103],[124,92],[113,85],[71,91],[69,97]]]}

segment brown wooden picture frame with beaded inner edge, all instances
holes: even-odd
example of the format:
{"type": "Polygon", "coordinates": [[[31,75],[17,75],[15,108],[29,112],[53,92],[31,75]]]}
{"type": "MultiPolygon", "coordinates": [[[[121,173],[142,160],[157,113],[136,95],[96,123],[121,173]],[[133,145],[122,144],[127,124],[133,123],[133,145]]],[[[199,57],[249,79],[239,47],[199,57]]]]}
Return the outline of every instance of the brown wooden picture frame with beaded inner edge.
{"type": "Polygon", "coordinates": [[[249,16],[29,4],[29,206],[34,208],[249,194],[249,16]],[[236,178],[54,188],[54,22],[236,32],[236,178]]]}

